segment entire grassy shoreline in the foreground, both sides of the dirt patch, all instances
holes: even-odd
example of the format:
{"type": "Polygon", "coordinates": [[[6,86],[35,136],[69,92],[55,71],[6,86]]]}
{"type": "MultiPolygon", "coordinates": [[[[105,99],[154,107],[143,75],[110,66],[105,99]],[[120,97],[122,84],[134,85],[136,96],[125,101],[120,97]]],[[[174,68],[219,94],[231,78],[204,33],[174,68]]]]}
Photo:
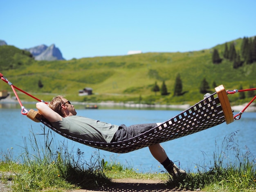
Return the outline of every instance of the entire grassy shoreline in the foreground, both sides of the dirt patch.
{"type": "Polygon", "coordinates": [[[208,167],[197,165],[197,172],[187,170],[185,177],[173,180],[166,172],[139,173],[132,167],[121,165],[118,160],[102,159],[98,153],[91,154],[90,161],[86,162],[84,152],[73,148],[70,152],[67,143],[55,143],[54,134],[45,127],[42,129],[43,145],[37,142],[31,130],[30,138],[24,140],[22,154],[17,159],[13,159],[12,149],[0,153],[0,173],[9,173],[0,180],[2,183],[12,181],[13,191],[92,190],[109,185],[112,179],[126,178],[158,179],[169,187],[188,190],[256,191],[256,160],[249,151],[240,153],[234,141],[236,133],[225,137],[220,150],[213,152],[214,162],[208,167]],[[32,150],[28,150],[29,145],[32,150]],[[225,163],[226,153],[236,157],[234,162],[225,163]]]}

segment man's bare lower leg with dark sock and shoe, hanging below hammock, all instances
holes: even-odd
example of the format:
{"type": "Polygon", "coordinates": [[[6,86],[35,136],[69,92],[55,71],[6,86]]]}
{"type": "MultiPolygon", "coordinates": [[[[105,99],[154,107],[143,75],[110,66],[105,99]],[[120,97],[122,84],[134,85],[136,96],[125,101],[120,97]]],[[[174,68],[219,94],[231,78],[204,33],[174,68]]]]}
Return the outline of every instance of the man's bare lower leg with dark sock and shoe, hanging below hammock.
{"type": "Polygon", "coordinates": [[[166,171],[173,177],[180,176],[181,174],[186,174],[184,170],[179,170],[177,165],[175,165],[167,156],[164,148],[158,143],[155,145],[148,146],[153,157],[161,163],[166,171]]]}

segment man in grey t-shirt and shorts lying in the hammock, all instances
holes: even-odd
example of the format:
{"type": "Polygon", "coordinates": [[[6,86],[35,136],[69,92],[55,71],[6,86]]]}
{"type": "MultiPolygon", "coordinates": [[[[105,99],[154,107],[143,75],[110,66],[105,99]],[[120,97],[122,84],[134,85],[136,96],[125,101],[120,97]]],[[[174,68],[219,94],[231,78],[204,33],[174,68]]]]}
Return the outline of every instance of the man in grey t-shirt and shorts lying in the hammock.
{"type": "MultiPolygon", "coordinates": [[[[123,141],[161,124],[148,123],[126,127],[126,125],[112,125],[87,117],[76,116],[74,105],[71,105],[70,101],[63,96],[54,97],[48,105],[42,102],[36,103],[36,108],[56,129],[67,135],[89,141],[108,143],[123,141]]],[[[160,144],[151,145],[148,148],[153,157],[174,178],[186,174],[184,170],[179,170],[177,165],[168,158],[160,144]]]]}

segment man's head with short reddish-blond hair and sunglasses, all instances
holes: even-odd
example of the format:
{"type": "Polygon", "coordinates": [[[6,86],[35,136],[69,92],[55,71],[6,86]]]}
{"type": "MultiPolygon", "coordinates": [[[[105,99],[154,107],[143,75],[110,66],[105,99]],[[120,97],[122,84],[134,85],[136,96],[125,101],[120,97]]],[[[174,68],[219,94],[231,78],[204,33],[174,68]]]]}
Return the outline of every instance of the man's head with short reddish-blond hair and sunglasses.
{"type": "Polygon", "coordinates": [[[48,106],[62,117],[76,115],[76,109],[64,96],[55,96],[48,106]]]}

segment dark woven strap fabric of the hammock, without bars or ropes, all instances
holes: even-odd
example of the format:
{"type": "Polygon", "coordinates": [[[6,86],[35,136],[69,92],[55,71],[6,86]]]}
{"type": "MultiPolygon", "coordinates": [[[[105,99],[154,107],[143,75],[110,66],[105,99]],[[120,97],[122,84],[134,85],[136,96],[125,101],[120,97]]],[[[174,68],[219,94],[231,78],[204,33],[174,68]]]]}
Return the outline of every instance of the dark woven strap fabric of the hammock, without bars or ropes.
{"type": "Polygon", "coordinates": [[[43,119],[40,119],[40,122],[58,134],[61,134],[73,141],[109,152],[128,153],[149,145],[163,143],[165,141],[193,134],[225,122],[220,100],[218,96],[214,97],[215,95],[217,94],[211,94],[208,98],[201,100],[199,103],[193,105],[189,109],[186,109],[179,115],[153,129],[148,130],[147,132],[144,132],[143,134],[128,140],[114,143],[87,141],[81,138],[72,137],[58,131],[43,119]]]}

